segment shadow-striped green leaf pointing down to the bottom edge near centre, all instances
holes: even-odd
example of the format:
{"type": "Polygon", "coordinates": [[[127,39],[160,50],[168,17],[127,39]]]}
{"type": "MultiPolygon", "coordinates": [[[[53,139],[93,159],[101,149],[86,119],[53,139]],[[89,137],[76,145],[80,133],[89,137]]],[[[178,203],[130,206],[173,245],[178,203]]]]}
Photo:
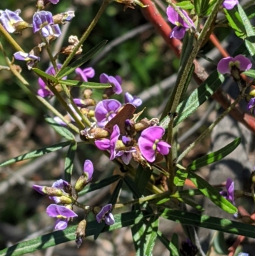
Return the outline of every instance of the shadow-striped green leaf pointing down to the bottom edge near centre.
{"type": "MultiPolygon", "coordinates": [[[[136,224],[136,226],[137,225],[139,225],[139,223],[136,224]]],[[[149,221],[145,222],[145,225],[142,225],[141,229],[136,232],[135,236],[133,236],[136,256],[152,256],[158,227],[159,218],[157,216],[151,216],[149,221]]]]}

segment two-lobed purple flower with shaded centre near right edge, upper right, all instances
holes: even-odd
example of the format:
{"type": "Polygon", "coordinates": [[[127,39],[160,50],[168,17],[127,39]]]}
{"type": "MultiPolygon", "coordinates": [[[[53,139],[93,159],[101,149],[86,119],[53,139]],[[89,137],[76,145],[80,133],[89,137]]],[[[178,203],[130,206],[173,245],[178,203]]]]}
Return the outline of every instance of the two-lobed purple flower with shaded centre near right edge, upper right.
{"type": "Polygon", "coordinates": [[[217,65],[217,70],[222,74],[230,74],[233,68],[238,68],[241,72],[251,69],[252,63],[242,54],[235,57],[226,57],[219,61],[217,65]]]}

